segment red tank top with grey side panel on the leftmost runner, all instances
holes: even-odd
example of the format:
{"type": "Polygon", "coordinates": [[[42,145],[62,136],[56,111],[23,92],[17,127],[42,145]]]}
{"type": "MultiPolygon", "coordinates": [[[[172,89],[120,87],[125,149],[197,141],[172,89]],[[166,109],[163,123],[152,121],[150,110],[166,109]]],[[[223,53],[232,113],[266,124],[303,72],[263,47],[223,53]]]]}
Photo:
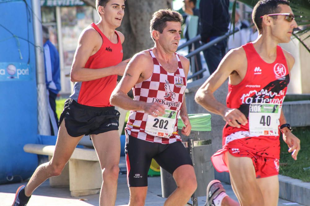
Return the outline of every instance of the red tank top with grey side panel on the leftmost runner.
{"type": "MultiPolygon", "coordinates": [[[[100,31],[95,23],[90,25],[102,37],[102,45],[98,52],[90,56],[84,66],[89,69],[100,69],[119,64],[123,59],[123,49],[121,39],[117,32],[118,42],[112,43],[100,31]]],[[[76,82],[73,94],[70,96],[79,104],[92,107],[110,107],[110,96],[116,86],[117,75],[111,75],[87,82],[76,82]]]]}

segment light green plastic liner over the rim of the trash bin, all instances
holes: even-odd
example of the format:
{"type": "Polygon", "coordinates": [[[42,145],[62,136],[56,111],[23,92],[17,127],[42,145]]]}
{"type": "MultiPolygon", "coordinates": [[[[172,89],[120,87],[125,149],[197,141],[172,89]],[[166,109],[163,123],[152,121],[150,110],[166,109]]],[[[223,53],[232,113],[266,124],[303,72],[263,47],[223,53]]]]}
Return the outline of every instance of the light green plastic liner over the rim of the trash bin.
{"type": "MultiPolygon", "coordinates": [[[[192,131],[211,131],[211,115],[210,114],[189,114],[189,122],[192,125],[192,131]]],[[[184,123],[179,117],[178,129],[182,129],[184,123]]]]}

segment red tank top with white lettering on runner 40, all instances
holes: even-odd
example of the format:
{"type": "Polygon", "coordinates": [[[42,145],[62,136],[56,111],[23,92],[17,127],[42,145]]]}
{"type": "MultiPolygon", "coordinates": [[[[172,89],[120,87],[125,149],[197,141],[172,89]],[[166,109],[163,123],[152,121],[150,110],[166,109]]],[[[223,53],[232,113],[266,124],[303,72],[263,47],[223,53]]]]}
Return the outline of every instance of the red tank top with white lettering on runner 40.
{"type": "MultiPolygon", "coordinates": [[[[228,108],[239,109],[249,118],[250,103],[271,103],[282,105],[286,95],[287,85],[290,82],[286,58],[280,46],[277,46],[277,58],[269,64],[256,52],[252,43],[242,46],[247,57],[247,71],[244,79],[237,85],[228,84],[226,97],[228,108]]],[[[241,128],[231,127],[228,124],[223,129],[223,145],[234,139],[252,137],[249,133],[249,124],[240,125],[241,128]]],[[[257,137],[257,136],[254,136],[257,137]]],[[[271,141],[278,141],[278,136],[259,136],[271,141]]]]}

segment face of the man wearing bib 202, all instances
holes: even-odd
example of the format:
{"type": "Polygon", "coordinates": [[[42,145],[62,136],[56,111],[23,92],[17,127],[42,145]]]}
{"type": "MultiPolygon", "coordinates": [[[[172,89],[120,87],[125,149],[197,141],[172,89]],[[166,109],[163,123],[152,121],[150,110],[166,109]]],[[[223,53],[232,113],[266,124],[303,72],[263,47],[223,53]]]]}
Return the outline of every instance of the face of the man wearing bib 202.
{"type": "Polygon", "coordinates": [[[181,23],[168,21],[166,22],[166,27],[159,33],[158,43],[162,45],[162,47],[170,52],[176,52],[179,41],[181,39],[181,23]]]}

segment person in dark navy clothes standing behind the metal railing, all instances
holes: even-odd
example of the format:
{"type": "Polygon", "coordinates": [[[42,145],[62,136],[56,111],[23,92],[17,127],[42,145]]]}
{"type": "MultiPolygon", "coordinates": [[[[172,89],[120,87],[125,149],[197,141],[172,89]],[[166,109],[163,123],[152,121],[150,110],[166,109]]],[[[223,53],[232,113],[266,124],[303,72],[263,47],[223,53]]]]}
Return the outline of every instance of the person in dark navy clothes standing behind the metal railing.
{"type": "MultiPolygon", "coordinates": [[[[202,0],[199,4],[201,22],[201,42],[206,44],[228,31],[229,0],[202,0]]],[[[227,39],[203,51],[206,63],[212,74],[226,53],[227,39]]]]}

